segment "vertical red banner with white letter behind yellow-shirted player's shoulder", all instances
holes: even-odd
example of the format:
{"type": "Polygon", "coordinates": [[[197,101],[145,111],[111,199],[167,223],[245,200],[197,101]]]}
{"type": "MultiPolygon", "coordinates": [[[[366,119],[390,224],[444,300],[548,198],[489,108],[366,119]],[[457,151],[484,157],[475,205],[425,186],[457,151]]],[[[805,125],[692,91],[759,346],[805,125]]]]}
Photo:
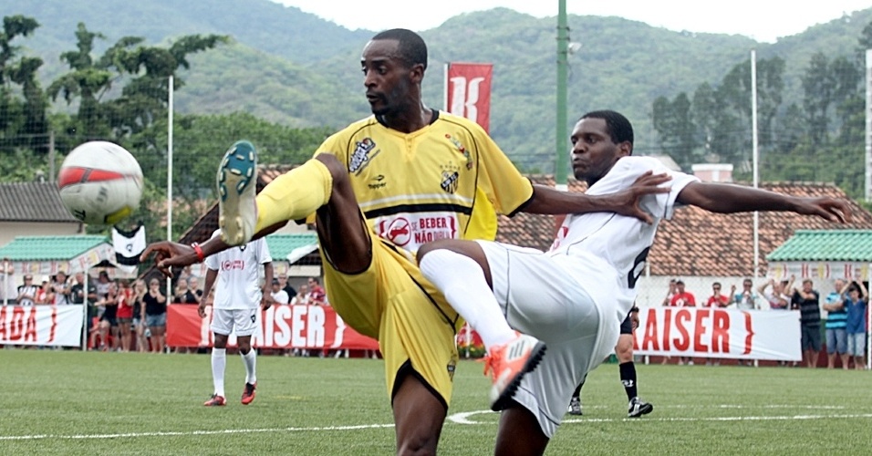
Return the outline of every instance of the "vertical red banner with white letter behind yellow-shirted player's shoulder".
{"type": "Polygon", "coordinates": [[[491,124],[492,78],[491,64],[448,64],[448,112],[470,119],[488,131],[491,124]]]}

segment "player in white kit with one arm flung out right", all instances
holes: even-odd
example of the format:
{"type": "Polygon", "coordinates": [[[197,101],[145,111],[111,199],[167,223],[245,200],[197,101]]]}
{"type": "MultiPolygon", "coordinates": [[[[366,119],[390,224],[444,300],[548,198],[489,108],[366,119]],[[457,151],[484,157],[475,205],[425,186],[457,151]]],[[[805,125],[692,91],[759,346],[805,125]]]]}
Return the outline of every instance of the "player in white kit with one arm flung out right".
{"type": "Polygon", "coordinates": [[[790,211],[832,222],[850,218],[846,202],[800,198],[738,185],[706,182],[670,171],[657,159],[632,157],[633,128],[615,111],[587,113],[570,137],[576,179],[587,194],[627,189],[651,171],[665,173],[670,192],[641,198],[653,223],[617,213],[571,213],[547,253],[488,241],[443,240],[418,252],[421,273],[464,316],[466,307],[496,309],[469,320],[491,347],[517,330],[545,342],[541,364],[520,379],[506,401],[497,454],[542,454],[566,412],[573,389],[615,347],[618,327],[636,300],[636,283],[660,220],[680,205],[711,212],[790,211]],[[547,287],[543,287],[547,284],[547,287]],[[505,321],[508,328],[502,329],[505,321]]]}

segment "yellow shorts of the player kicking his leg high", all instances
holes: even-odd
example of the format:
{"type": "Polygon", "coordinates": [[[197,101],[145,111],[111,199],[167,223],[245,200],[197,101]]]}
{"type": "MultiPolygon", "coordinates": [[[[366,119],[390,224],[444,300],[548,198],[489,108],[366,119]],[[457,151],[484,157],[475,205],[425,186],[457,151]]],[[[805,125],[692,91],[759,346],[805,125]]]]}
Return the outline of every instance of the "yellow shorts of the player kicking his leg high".
{"type": "Polygon", "coordinates": [[[338,272],[322,252],[330,306],[348,326],[379,340],[390,398],[400,369],[410,362],[448,407],[458,359],[454,337],[462,318],[423,278],[408,252],[371,230],[369,238],[372,263],[360,274],[338,272]]]}

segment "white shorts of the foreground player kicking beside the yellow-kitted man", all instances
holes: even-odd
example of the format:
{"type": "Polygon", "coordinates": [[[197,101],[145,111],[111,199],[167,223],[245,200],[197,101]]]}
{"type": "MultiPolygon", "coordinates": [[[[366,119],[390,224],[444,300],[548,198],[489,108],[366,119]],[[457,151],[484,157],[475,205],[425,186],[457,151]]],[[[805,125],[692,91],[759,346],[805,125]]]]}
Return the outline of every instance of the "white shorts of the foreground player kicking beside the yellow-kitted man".
{"type": "Polygon", "coordinates": [[[514,400],[552,438],[572,392],[618,343],[615,309],[602,309],[566,268],[535,249],[479,241],[493,295],[514,329],[545,342],[542,362],[524,376],[514,400]]]}

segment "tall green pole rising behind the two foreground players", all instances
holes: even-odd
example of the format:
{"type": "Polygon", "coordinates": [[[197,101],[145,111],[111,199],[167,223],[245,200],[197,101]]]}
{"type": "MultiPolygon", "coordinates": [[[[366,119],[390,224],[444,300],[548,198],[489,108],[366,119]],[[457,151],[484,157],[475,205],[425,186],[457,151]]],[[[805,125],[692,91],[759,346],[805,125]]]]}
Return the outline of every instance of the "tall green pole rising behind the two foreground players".
{"type": "Polygon", "coordinates": [[[568,76],[569,57],[569,26],[566,25],[566,0],[558,1],[557,12],[557,129],[555,132],[555,163],[554,181],[557,190],[566,190],[566,172],[569,163],[569,150],[566,139],[566,82],[568,76]]]}

